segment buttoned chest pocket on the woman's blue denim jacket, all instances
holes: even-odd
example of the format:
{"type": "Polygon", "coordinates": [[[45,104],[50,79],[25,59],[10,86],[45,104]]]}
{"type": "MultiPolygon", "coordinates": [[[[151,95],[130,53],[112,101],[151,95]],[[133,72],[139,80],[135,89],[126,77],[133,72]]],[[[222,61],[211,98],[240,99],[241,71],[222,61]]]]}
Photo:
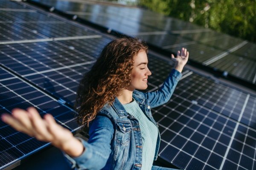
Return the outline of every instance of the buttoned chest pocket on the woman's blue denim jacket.
{"type": "Polygon", "coordinates": [[[127,144],[131,138],[131,130],[130,122],[116,122],[115,141],[121,145],[127,144]]]}

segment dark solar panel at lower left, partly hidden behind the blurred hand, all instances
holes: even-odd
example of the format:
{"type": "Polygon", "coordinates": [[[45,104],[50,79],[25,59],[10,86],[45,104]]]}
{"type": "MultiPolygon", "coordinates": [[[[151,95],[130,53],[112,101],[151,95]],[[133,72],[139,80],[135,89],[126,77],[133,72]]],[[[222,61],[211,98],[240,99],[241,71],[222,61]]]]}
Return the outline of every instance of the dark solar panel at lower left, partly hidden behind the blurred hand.
{"type": "MultiPolygon", "coordinates": [[[[13,108],[35,107],[41,116],[51,113],[58,124],[71,132],[79,127],[73,110],[30,85],[4,68],[0,68],[0,115],[13,108]]],[[[0,169],[46,147],[49,143],[18,132],[0,120],[0,169]]]]}

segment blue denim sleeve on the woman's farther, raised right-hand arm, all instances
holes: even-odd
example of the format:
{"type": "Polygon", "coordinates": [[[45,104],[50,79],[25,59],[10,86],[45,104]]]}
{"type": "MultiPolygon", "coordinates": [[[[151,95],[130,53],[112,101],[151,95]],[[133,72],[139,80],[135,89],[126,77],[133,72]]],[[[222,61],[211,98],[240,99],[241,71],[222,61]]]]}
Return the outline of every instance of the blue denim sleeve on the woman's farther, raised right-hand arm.
{"type": "Polygon", "coordinates": [[[182,74],[179,71],[172,69],[169,77],[165,80],[158,91],[145,93],[146,99],[150,102],[150,107],[155,108],[168,102],[181,77],[182,74]]]}

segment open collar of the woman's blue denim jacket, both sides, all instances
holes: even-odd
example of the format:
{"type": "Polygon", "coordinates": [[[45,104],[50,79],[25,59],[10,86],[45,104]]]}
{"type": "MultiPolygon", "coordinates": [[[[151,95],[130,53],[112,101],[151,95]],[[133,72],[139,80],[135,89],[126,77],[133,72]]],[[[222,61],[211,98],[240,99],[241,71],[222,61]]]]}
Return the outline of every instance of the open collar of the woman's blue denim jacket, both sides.
{"type": "MultiPolygon", "coordinates": [[[[139,93],[136,93],[136,91],[133,92],[132,97],[138,104],[145,104],[145,99],[141,99],[141,95],[139,93]]],[[[117,99],[117,97],[113,102],[112,108],[116,111],[119,118],[129,116],[128,113],[125,111],[125,108],[123,107],[122,103],[119,102],[119,100],[117,99]]]]}

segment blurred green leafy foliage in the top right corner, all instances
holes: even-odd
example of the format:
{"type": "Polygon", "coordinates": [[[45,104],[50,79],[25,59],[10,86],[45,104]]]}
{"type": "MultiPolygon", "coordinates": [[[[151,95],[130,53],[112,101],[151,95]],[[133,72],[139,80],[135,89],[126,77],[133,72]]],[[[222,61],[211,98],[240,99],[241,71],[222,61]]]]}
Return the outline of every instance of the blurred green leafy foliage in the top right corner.
{"type": "Polygon", "coordinates": [[[140,0],[139,5],[256,42],[256,0],[140,0]]]}

